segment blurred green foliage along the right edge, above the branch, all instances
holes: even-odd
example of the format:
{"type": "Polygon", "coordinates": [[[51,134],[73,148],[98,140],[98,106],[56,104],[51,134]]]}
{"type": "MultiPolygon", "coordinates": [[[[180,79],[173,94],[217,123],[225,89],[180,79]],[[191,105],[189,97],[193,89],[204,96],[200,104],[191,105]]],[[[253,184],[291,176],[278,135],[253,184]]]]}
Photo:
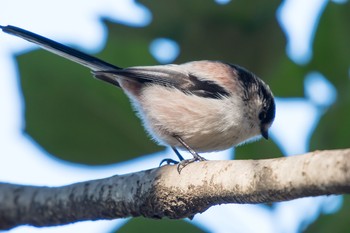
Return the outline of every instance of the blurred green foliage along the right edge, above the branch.
{"type": "Polygon", "coordinates": [[[317,70],[338,91],[313,134],[310,149],[347,148],[350,145],[350,3],[329,4],[320,18],[309,70],[317,70]]]}

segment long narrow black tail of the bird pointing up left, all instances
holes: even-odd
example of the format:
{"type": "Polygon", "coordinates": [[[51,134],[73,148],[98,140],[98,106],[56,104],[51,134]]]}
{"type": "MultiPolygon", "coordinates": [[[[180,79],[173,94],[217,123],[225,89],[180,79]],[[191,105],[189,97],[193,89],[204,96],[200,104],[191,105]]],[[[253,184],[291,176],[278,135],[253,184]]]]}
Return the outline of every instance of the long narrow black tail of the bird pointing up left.
{"type": "MultiPolygon", "coordinates": [[[[86,66],[90,68],[92,71],[113,71],[113,70],[115,71],[115,70],[121,69],[120,67],[109,64],[96,57],[90,56],[86,53],[83,53],[81,51],[68,47],[66,45],[60,44],[56,41],[50,40],[46,37],[40,36],[33,32],[24,30],[22,28],[10,26],[10,25],[9,26],[0,25],[0,29],[2,29],[3,32],[23,38],[29,42],[39,45],[45,50],[48,50],[59,56],[62,56],[71,61],[77,62],[83,66],[86,66]]],[[[109,80],[107,82],[111,82],[111,81],[109,80]]],[[[112,82],[112,84],[116,84],[116,83],[112,82]]]]}

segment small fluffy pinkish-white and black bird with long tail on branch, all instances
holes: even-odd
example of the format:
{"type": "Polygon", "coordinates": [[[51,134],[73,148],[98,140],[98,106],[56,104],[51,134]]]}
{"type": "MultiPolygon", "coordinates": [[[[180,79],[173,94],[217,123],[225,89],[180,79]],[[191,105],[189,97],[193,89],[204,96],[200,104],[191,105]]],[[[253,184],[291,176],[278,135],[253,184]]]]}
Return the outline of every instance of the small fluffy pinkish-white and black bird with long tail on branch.
{"type": "Polygon", "coordinates": [[[91,69],[97,79],[120,87],[129,97],[146,131],[160,145],[172,147],[181,170],[206,160],[198,152],[225,150],[262,135],[275,118],[268,85],[248,70],[221,61],[120,68],[15,26],[3,32],[21,37],[91,69]],[[185,160],[178,149],[188,150],[185,160]]]}

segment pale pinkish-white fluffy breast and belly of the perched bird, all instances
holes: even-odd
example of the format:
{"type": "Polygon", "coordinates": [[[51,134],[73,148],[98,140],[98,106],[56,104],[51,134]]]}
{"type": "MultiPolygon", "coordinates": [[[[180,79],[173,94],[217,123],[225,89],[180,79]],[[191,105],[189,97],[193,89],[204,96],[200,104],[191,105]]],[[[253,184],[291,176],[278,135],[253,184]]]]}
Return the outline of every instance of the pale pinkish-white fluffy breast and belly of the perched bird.
{"type": "Polygon", "coordinates": [[[223,99],[184,94],[150,85],[134,103],[149,134],[160,144],[182,148],[180,136],[197,152],[223,150],[259,134],[248,106],[237,96],[223,99]]]}

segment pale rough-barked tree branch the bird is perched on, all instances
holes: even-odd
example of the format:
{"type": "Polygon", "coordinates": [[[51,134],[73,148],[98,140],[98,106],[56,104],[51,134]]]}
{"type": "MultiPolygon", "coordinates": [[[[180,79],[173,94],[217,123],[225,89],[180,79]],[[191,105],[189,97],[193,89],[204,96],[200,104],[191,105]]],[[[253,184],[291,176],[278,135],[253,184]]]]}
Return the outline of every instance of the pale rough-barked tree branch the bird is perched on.
{"type": "Polygon", "coordinates": [[[205,161],[62,187],[0,183],[0,229],[145,216],[180,219],[225,203],[350,192],[350,149],[266,160],[205,161]]]}

